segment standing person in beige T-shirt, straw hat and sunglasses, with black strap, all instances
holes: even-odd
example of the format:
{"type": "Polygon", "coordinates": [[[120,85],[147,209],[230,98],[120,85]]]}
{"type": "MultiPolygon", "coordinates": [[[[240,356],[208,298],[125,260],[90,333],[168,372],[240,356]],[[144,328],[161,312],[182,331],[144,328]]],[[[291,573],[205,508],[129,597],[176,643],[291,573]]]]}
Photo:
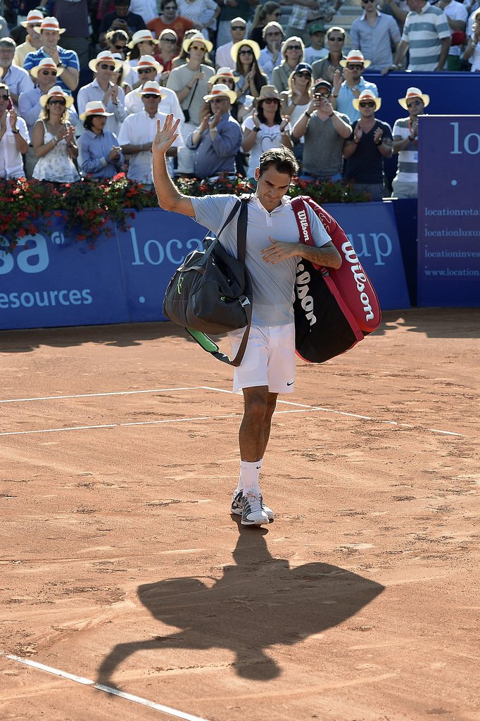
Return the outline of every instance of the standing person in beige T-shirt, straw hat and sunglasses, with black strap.
{"type": "MultiPolygon", "coordinates": [[[[213,68],[205,65],[203,60],[205,53],[213,50],[213,44],[197,32],[183,41],[182,49],[187,53],[187,62],[185,65],[173,68],[166,81],[166,87],[177,93],[185,115],[183,132],[187,136],[200,124],[203,97],[208,92],[208,80],[214,74],[213,68]]],[[[184,147],[178,154],[178,173],[185,175],[192,172],[192,152],[184,147]]]]}

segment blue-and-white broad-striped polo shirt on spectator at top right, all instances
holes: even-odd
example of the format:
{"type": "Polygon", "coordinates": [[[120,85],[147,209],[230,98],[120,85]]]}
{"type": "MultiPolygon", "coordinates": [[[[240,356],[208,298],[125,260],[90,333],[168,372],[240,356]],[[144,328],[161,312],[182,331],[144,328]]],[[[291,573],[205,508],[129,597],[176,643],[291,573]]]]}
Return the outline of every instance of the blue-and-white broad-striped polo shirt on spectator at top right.
{"type": "Polygon", "coordinates": [[[441,40],[450,37],[450,27],[443,10],[426,3],[420,12],[409,12],[401,36],[409,44],[409,70],[435,70],[440,58],[441,40]]]}

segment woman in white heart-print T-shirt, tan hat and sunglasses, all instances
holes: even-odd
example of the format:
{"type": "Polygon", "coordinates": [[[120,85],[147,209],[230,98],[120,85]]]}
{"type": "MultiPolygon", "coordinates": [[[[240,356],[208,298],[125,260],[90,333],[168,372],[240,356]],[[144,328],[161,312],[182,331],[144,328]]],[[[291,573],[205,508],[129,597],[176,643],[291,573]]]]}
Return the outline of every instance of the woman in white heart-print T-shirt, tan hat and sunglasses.
{"type": "Polygon", "coordinates": [[[263,152],[270,148],[280,148],[284,145],[292,149],[288,129],[289,118],[280,115],[280,93],[273,85],[264,85],[259,97],[254,99],[253,115],[249,115],[241,126],[244,132],[241,143],[245,153],[249,153],[249,165],[246,177],[254,178],[255,168],[259,165],[259,158],[263,152]]]}

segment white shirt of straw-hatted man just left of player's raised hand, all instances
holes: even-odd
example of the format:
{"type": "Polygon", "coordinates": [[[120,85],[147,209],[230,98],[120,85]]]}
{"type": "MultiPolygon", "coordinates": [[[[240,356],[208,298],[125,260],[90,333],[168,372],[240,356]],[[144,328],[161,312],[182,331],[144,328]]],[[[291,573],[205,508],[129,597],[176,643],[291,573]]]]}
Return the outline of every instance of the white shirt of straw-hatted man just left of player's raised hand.
{"type": "MultiPolygon", "coordinates": [[[[163,101],[161,101],[163,102],[163,101]]],[[[134,115],[128,115],[128,118],[122,123],[120,133],[118,133],[118,144],[124,145],[143,145],[143,143],[151,143],[156,133],[156,121],[161,120],[164,124],[166,115],[164,112],[157,112],[153,118],[148,115],[145,110],[135,112],[134,115]]],[[[173,143],[174,148],[183,148],[185,143],[181,135],[173,143]]],[[[151,174],[151,151],[142,151],[130,155],[130,164],[128,166],[127,177],[136,182],[145,183],[146,185],[154,182],[151,174]]]]}

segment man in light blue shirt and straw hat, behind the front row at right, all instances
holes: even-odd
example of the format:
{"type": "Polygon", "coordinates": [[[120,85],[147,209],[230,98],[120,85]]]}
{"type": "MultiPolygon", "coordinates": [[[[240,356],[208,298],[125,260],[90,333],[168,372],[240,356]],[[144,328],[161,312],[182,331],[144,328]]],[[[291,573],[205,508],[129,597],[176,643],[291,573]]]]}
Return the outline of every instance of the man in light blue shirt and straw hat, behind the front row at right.
{"type": "Polygon", "coordinates": [[[362,73],[371,63],[365,60],[360,50],[350,50],[345,60],[340,61],[343,68],[343,77],[339,70],[334,72],[332,107],[338,112],[348,115],[350,122],[359,120],[360,112],[353,107],[352,100],[358,99],[363,90],[369,89],[378,97],[378,88],[375,83],[365,80],[362,73]]]}

